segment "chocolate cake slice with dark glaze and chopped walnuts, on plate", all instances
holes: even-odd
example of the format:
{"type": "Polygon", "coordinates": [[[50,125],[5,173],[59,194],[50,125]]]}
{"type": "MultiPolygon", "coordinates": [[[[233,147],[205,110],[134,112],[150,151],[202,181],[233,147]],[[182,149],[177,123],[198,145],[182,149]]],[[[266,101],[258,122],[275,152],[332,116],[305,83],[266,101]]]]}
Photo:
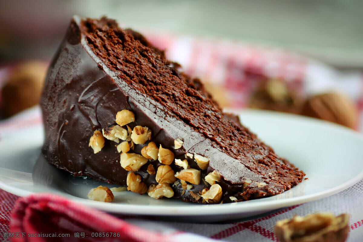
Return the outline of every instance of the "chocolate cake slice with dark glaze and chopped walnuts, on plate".
{"type": "Polygon", "coordinates": [[[46,160],[150,197],[209,204],[301,182],[304,172],[178,67],[114,20],[74,17],[41,98],[46,160]]]}

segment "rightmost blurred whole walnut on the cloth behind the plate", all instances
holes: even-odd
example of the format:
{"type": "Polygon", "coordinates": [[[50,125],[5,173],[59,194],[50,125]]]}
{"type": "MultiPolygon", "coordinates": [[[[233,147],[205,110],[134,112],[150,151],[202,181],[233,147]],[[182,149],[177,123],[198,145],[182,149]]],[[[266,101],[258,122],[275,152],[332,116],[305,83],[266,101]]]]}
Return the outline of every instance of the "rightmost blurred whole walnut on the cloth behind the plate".
{"type": "Polygon", "coordinates": [[[342,124],[352,129],[358,125],[358,110],[349,97],[341,93],[324,93],[307,99],[302,115],[342,124]]]}

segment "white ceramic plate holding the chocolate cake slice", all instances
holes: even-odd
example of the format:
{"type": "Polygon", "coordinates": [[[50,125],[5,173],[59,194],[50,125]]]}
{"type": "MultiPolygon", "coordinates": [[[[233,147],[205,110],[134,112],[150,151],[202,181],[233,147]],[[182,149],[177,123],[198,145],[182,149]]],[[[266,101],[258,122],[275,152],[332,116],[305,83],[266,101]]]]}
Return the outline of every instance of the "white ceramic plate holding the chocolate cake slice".
{"type": "Polygon", "coordinates": [[[155,200],[146,194],[140,196],[128,191],[115,192],[111,203],[90,201],[86,197],[88,191],[104,183],[74,178],[38,159],[43,131],[42,127],[37,127],[0,140],[0,188],[18,196],[35,192],[57,193],[111,213],[214,222],[249,217],[327,197],[363,177],[363,138],[357,132],[333,123],[268,111],[245,110],[240,112],[240,118],[278,155],[305,171],[308,179],[277,196],[232,204],[155,200]]]}

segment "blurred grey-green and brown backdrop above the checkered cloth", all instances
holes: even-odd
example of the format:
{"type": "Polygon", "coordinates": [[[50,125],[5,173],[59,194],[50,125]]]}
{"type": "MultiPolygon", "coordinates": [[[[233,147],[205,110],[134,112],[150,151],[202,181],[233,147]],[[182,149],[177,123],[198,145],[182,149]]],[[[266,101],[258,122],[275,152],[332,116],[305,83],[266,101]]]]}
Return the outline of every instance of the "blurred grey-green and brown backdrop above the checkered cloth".
{"type": "Polygon", "coordinates": [[[2,62],[48,58],[72,15],[107,15],[138,30],[278,46],[339,67],[363,67],[359,0],[1,1],[2,62]]]}

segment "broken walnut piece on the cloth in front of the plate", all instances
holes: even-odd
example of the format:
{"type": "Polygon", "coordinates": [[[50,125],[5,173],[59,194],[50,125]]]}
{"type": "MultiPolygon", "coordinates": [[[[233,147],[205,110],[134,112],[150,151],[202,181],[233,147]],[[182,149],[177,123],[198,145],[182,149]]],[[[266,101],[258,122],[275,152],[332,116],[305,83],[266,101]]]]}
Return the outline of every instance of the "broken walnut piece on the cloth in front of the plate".
{"type": "Polygon", "coordinates": [[[349,215],[335,217],[331,213],[309,214],[305,217],[278,221],[275,233],[282,242],[343,242],[348,237],[349,215]]]}

